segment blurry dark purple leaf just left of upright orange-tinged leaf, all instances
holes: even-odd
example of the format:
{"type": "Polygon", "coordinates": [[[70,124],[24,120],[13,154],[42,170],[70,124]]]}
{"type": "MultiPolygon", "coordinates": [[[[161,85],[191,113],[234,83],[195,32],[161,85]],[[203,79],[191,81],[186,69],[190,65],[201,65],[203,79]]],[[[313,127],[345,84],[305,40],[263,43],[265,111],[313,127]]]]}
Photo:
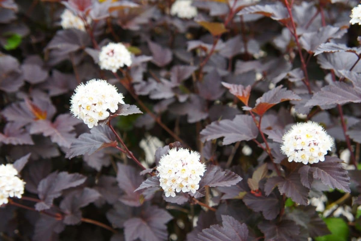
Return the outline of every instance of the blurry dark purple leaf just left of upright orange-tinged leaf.
{"type": "Polygon", "coordinates": [[[219,99],[225,92],[225,89],[221,85],[221,81],[222,79],[218,75],[216,69],[208,72],[201,82],[197,82],[199,95],[206,100],[219,99]]]}

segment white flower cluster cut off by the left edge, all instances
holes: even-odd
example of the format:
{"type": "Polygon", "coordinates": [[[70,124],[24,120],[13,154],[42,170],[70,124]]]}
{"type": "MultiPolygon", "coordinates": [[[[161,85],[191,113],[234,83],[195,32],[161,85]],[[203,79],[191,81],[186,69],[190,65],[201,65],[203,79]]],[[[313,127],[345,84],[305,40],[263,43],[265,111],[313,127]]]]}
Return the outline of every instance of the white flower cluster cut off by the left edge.
{"type": "Polygon", "coordinates": [[[25,182],[17,177],[18,171],[12,164],[0,165],[0,206],[8,203],[9,197],[21,198],[25,182]]]}

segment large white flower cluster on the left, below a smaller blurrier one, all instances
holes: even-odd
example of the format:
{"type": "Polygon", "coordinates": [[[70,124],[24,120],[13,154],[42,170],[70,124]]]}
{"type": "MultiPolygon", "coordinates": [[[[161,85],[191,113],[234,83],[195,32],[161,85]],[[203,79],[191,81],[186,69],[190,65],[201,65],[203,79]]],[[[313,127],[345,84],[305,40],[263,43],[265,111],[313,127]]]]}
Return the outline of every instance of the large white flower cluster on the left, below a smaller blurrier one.
{"type": "Polygon", "coordinates": [[[105,120],[110,115],[108,109],[114,113],[118,109],[118,103],[125,104],[123,98],[114,85],[103,79],[92,79],[75,89],[70,100],[70,111],[89,128],[93,128],[98,125],[98,121],[105,120]]]}

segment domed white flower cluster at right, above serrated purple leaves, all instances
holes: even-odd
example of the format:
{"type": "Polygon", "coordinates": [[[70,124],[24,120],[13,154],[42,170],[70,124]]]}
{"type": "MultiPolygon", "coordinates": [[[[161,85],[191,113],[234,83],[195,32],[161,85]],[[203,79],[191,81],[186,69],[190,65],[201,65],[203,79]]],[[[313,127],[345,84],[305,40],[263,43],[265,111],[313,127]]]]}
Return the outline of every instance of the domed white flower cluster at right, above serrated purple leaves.
{"type": "Polygon", "coordinates": [[[293,125],[282,140],[281,150],[288,156],[288,162],[303,164],[323,162],[327,151],[334,145],[331,136],[313,121],[293,125]]]}

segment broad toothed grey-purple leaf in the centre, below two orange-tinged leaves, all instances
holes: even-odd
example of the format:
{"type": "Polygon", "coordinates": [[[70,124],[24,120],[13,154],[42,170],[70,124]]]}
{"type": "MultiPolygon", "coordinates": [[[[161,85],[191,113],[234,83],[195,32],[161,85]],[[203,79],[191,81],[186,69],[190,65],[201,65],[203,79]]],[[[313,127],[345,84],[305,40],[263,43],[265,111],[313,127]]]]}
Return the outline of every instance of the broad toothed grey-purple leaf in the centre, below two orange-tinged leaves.
{"type": "Polygon", "coordinates": [[[257,137],[258,129],[249,115],[237,115],[233,120],[214,121],[201,132],[201,141],[224,137],[223,145],[249,141],[257,137]]]}

